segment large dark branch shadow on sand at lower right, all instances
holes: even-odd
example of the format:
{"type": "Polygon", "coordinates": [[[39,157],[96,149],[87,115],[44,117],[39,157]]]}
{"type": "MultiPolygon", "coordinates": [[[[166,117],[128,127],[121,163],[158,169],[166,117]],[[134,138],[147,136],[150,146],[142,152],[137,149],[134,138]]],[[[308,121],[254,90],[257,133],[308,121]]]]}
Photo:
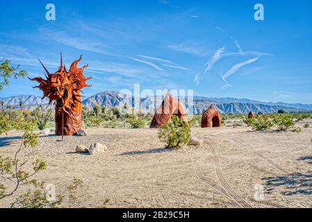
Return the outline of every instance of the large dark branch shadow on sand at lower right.
{"type": "Polygon", "coordinates": [[[283,187],[284,195],[311,195],[312,194],[312,173],[290,173],[284,176],[263,178],[270,190],[276,187],[283,187]]]}

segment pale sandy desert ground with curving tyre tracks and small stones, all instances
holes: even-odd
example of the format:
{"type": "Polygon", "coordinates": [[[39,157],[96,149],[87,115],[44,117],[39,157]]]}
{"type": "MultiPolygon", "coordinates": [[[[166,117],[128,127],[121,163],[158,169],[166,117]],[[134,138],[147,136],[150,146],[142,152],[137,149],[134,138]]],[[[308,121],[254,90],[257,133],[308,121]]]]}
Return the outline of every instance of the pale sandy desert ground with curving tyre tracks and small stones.
{"type": "MultiPolygon", "coordinates": [[[[155,129],[87,129],[86,137],[40,137],[35,158],[47,161],[37,178],[64,192],[83,180],[85,207],[312,207],[312,120],[302,133],[261,133],[246,127],[192,128],[201,146],[168,150],[155,129]],[[99,142],[102,155],[75,153],[99,142]]],[[[13,156],[19,133],[0,137],[0,155],[13,156]]],[[[31,167],[31,165],[26,165],[31,167]]],[[[22,187],[22,190],[25,189],[22,187]]],[[[7,207],[12,201],[0,201],[7,207]]]]}

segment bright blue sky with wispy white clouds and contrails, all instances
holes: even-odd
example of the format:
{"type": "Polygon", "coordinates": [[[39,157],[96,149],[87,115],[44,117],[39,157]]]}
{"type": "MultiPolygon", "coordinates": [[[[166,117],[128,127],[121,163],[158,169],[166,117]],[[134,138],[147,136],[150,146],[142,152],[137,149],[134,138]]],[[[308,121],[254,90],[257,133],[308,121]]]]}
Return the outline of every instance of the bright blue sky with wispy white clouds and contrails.
{"type": "MultiPolygon", "coordinates": [[[[1,4],[0,57],[43,76],[83,55],[92,87],[194,89],[197,96],[312,103],[312,1],[46,1],[1,4]],[[254,20],[262,3],[265,20],[254,20]]],[[[42,95],[28,79],[1,97],[42,95]]]]}

